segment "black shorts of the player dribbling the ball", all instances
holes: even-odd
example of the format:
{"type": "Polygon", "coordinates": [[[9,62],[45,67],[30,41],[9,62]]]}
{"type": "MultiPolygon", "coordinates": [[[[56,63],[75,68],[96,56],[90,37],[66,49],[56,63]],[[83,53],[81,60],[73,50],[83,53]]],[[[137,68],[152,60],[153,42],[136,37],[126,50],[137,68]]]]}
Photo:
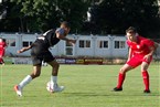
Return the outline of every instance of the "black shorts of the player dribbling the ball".
{"type": "Polygon", "coordinates": [[[31,58],[33,65],[41,65],[42,62],[52,62],[55,60],[52,53],[43,44],[35,45],[31,49],[31,58]]]}

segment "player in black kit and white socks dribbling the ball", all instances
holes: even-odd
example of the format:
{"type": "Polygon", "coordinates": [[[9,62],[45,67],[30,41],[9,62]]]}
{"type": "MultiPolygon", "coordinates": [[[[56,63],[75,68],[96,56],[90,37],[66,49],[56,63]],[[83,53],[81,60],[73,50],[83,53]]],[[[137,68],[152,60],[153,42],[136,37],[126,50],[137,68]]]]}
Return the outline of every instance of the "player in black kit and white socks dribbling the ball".
{"type": "Polygon", "coordinates": [[[44,34],[39,36],[32,45],[22,47],[20,51],[18,51],[18,53],[22,53],[31,49],[31,58],[33,62],[33,72],[24,77],[24,79],[22,79],[20,84],[14,86],[14,90],[18,96],[22,96],[22,89],[26,84],[29,84],[35,77],[40,76],[43,61],[52,66],[51,83],[54,92],[62,92],[64,89],[64,86],[57,85],[57,73],[60,64],[53,57],[52,53],[49,51],[49,47],[57,44],[60,40],[64,40],[74,45],[76,40],[67,39],[66,35],[68,34],[68,23],[62,22],[58,29],[46,31],[44,34]]]}

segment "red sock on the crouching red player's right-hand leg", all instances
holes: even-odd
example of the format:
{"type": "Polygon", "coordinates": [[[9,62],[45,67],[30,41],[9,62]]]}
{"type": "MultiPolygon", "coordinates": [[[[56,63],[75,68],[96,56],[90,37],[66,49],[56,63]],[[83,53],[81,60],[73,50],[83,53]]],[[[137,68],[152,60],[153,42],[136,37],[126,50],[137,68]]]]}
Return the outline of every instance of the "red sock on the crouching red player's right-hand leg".
{"type": "Polygon", "coordinates": [[[146,90],[149,90],[149,74],[147,71],[142,72],[142,78],[143,78],[146,90]]]}

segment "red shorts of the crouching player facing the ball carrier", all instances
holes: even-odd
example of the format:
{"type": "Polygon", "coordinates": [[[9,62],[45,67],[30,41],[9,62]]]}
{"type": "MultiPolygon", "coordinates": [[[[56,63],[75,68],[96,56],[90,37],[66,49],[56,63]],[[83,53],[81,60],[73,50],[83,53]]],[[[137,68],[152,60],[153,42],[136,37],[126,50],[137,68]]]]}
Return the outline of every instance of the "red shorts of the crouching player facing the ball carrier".
{"type": "Polygon", "coordinates": [[[127,62],[127,64],[130,65],[131,67],[137,67],[142,62],[150,64],[150,62],[152,61],[152,56],[150,56],[150,61],[147,61],[146,58],[143,58],[143,56],[145,55],[135,55],[127,62]]]}

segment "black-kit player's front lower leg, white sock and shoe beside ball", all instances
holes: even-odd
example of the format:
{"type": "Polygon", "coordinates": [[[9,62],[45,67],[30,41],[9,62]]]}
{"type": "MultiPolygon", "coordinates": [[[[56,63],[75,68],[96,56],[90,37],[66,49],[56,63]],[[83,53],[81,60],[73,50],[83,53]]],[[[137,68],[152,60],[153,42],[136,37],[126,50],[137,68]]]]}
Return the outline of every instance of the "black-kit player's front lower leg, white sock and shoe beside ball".
{"type": "Polygon", "coordinates": [[[53,86],[54,92],[62,92],[64,89],[64,86],[57,85],[57,74],[60,64],[55,60],[47,62],[47,64],[52,66],[51,84],[53,86]]]}

